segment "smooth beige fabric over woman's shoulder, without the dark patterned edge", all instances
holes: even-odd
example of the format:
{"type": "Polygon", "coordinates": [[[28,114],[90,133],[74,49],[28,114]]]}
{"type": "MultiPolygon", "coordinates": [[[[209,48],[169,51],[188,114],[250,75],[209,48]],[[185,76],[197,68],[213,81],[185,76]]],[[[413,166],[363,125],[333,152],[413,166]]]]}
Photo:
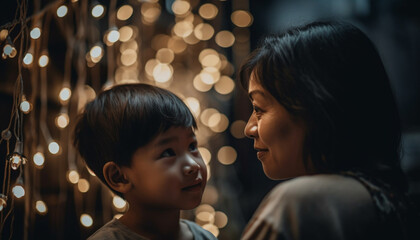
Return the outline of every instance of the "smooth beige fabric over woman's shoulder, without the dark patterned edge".
{"type": "Polygon", "coordinates": [[[378,222],[369,192],[341,175],[314,175],[276,186],[245,228],[243,240],[369,239],[378,222]]]}

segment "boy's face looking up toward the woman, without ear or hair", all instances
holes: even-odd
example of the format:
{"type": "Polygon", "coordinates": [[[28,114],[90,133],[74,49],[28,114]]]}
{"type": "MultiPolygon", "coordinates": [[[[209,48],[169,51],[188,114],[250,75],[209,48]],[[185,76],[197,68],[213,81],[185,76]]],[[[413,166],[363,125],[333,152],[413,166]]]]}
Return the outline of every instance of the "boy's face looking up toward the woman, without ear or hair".
{"type": "MultiPolygon", "coordinates": [[[[139,136],[141,137],[141,136],[139,136]]],[[[201,202],[207,169],[191,127],[171,127],[136,150],[130,167],[122,167],[132,188],[130,207],[192,209],[201,202]]]]}

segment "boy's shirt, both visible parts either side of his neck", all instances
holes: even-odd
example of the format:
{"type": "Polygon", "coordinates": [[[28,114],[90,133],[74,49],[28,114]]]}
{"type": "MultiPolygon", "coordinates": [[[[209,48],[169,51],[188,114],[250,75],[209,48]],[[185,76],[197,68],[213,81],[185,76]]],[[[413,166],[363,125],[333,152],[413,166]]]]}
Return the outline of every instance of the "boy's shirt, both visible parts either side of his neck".
{"type": "MultiPolygon", "coordinates": [[[[181,219],[188,225],[191,230],[194,240],[217,240],[217,238],[209,231],[203,229],[194,222],[181,219]]],[[[88,240],[148,240],[145,237],[138,235],[131,231],[127,226],[122,224],[118,219],[114,218],[98,229],[88,240]]]]}

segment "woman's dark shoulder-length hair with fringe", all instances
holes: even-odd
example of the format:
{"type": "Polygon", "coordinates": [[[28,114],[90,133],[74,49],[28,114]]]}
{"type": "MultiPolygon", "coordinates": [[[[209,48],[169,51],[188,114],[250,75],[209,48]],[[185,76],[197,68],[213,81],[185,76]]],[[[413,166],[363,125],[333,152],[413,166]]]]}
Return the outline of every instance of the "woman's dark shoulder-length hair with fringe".
{"type": "Polygon", "coordinates": [[[266,36],[243,64],[307,126],[305,164],[319,172],[368,172],[405,190],[398,110],[376,47],[358,28],[315,22],[266,36]]]}

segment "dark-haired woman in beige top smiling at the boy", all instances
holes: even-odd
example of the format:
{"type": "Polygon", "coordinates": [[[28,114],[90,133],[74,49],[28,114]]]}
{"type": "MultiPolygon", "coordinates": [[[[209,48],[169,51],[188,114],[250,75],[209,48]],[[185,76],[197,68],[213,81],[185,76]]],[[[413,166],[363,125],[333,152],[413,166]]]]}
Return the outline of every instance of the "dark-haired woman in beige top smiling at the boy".
{"type": "Polygon", "coordinates": [[[267,36],[240,81],[254,108],[245,134],[264,173],[290,179],[243,239],[412,239],[398,111],[364,33],[316,22],[267,36]]]}

